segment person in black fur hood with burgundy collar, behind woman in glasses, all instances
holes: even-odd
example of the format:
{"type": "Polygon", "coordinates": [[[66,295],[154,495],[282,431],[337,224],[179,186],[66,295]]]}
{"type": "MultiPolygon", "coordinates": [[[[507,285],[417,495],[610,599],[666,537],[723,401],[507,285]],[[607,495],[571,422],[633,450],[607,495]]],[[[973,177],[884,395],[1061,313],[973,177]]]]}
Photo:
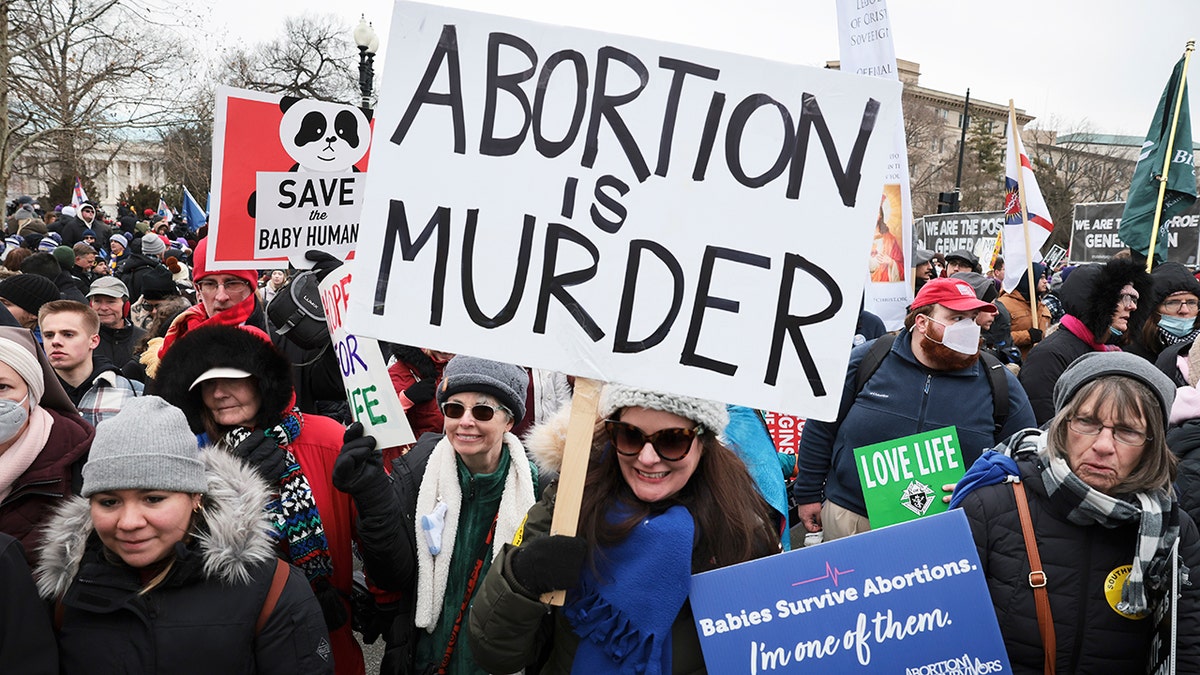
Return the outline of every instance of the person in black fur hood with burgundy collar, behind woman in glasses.
{"type": "Polygon", "coordinates": [[[1142,298],[1153,295],[1153,281],[1142,265],[1114,258],[1081,265],[1062,285],[1063,315],[1058,329],[1030,351],[1020,381],[1038,424],[1054,417],[1054,386],[1067,366],[1088,352],[1115,352],[1132,327],[1153,311],[1142,298]]]}

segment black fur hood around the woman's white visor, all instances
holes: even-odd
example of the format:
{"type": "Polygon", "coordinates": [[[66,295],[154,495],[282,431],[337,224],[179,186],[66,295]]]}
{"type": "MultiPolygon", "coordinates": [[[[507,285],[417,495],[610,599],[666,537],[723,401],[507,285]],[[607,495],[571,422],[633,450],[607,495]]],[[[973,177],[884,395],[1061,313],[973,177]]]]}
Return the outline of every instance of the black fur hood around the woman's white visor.
{"type": "Polygon", "coordinates": [[[230,325],[204,325],[187,331],[163,356],[148,393],[156,394],[187,416],[192,431],[204,431],[204,402],[192,382],[212,368],[236,368],[254,375],[262,406],[256,428],[272,426],[295,402],[292,368],[265,333],[230,325]]]}

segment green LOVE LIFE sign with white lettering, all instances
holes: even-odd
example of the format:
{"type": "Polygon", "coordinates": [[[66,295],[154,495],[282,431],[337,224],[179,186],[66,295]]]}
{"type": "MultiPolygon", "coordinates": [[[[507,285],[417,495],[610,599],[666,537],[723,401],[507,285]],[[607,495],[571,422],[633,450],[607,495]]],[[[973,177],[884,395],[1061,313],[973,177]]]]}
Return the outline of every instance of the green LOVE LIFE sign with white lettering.
{"type": "Polygon", "coordinates": [[[871,527],[942,513],[942,485],[966,472],[953,426],[884,441],[854,450],[871,527]]]}

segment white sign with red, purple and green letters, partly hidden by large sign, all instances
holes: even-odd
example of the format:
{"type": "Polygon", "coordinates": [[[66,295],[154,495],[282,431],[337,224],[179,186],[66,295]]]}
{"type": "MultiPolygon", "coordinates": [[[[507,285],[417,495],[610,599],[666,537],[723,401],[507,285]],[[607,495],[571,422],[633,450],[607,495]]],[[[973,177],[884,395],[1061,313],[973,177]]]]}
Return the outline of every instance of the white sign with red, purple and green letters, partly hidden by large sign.
{"type": "Polygon", "coordinates": [[[374,436],[378,447],[407,446],[416,438],[400,405],[400,396],[391,387],[379,342],[346,328],[352,275],[344,270],[342,267],[326,276],[319,288],[350,414],[355,422],[362,423],[366,435],[374,436]]]}

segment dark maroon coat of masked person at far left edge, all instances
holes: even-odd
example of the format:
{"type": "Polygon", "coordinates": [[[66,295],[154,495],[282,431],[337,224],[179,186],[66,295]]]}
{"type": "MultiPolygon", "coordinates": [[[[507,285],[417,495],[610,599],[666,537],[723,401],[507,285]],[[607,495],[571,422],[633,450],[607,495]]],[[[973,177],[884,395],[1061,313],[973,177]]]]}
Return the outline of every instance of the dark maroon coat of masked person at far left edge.
{"type": "Polygon", "coordinates": [[[37,560],[41,548],[38,530],[49,519],[50,512],[62,498],[77,494],[83,486],[83,465],[96,435],[96,430],[78,414],[43,410],[54,418],[50,437],[0,503],[0,532],[19,539],[30,560],[37,560]]]}

